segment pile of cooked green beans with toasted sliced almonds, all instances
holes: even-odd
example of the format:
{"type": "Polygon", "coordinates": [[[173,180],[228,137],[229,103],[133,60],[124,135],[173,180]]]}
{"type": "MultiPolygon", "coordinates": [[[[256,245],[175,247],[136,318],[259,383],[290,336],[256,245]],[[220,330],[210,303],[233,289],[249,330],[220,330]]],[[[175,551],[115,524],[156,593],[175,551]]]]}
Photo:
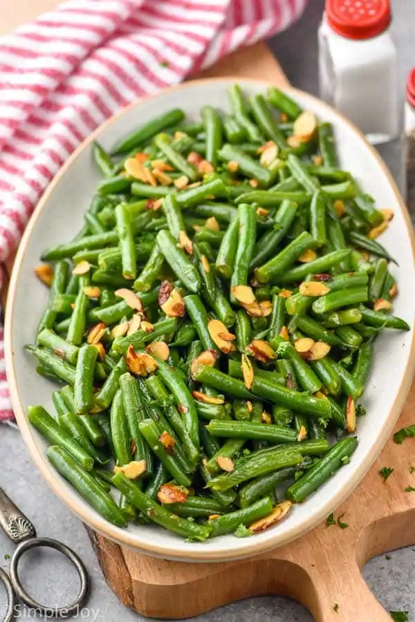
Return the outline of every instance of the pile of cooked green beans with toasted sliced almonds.
{"type": "Polygon", "coordinates": [[[375,239],[391,214],[331,124],[276,88],[229,99],[94,144],[102,180],[42,256],[26,346],[62,384],[55,416],[28,409],[62,477],[114,525],[198,541],[266,529],[349,462],[374,342],[409,330],[375,239]]]}

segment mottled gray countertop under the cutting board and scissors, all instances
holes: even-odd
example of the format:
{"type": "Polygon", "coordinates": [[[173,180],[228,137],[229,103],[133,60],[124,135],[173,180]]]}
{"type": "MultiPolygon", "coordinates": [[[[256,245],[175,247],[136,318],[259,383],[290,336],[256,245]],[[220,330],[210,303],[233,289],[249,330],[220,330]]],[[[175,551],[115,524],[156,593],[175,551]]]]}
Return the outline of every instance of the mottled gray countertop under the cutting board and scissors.
{"type": "MultiPolygon", "coordinates": [[[[316,29],[322,15],[322,0],[309,0],[302,19],[287,32],[270,41],[290,81],[311,93],[317,94],[316,29]]],[[[392,0],[394,7],[393,32],[399,48],[399,84],[404,93],[405,77],[414,63],[415,3],[409,0],[392,0]]],[[[258,75],[261,75],[259,68],[258,75]]],[[[396,151],[382,155],[396,176],[399,162],[396,151]]],[[[13,497],[17,505],[28,514],[41,536],[64,540],[82,557],[91,576],[91,598],[88,610],[77,619],[89,622],[137,622],[140,616],[127,610],[107,587],[86,531],[63,503],[48,489],[46,483],[28,457],[19,432],[12,426],[0,430],[1,486],[13,497]]],[[[363,570],[365,579],[374,594],[388,610],[409,610],[410,620],[415,620],[415,549],[407,548],[371,560],[363,570]]],[[[0,533],[0,565],[7,567],[5,555],[12,545],[0,533]]],[[[33,596],[44,602],[63,604],[71,600],[77,589],[75,576],[66,562],[46,549],[42,557],[28,556],[24,560],[21,576],[33,596]],[[47,565],[50,563],[50,565],[47,565]],[[56,596],[59,594],[59,597],[56,596]],[[59,599],[59,600],[58,600],[59,599]]],[[[5,597],[0,590],[0,619],[5,597]]],[[[20,614],[29,617],[28,612],[20,614]]],[[[32,616],[30,618],[33,619],[32,616]]],[[[43,619],[43,618],[42,618],[43,619]]],[[[340,619],[340,618],[339,618],[340,619]]],[[[311,622],[312,616],[298,603],[281,597],[260,597],[234,603],[209,612],[197,619],[199,622],[311,622]]],[[[370,621],[372,622],[372,621],[370,621]]],[[[373,621],[376,622],[376,621],[373,621]]]]}

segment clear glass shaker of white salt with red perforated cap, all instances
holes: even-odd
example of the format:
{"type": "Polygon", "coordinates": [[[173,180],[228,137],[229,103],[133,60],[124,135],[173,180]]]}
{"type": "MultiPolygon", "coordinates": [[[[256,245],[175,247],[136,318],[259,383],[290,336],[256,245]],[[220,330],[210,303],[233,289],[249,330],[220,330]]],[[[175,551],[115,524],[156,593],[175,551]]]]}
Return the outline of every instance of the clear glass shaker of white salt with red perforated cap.
{"type": "Polygon", "coordinates": [[[318,32],[320,97],[373,144],[400,130],[390,23],[389,0],[326,0],[318,32]]]}

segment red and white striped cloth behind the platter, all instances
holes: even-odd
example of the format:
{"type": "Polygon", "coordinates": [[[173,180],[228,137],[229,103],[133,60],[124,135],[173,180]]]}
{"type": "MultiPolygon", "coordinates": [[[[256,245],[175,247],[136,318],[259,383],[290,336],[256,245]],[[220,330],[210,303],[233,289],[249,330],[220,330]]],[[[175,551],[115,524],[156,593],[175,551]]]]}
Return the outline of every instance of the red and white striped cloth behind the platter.
{"type": "MultiPolygon", "coordinates": [[[[0,262],[62,162],[95,127],[138,97],[283,30],[305,4],[68,0],[1,37],[0,262]]],[[[0,420],[12,416],[0,328],[0,420]]]]}

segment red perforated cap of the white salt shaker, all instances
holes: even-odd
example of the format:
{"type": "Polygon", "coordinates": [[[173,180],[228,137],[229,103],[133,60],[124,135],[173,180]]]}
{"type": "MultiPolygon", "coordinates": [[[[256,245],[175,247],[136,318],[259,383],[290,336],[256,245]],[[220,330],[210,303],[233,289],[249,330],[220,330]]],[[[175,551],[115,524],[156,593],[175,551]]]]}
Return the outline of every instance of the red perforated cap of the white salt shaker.
{"type": "Polygon", "coordinates": [[[390,0],[326,0],[331,28],[347,39],[371,39],[391,21],[390,0]]]}

